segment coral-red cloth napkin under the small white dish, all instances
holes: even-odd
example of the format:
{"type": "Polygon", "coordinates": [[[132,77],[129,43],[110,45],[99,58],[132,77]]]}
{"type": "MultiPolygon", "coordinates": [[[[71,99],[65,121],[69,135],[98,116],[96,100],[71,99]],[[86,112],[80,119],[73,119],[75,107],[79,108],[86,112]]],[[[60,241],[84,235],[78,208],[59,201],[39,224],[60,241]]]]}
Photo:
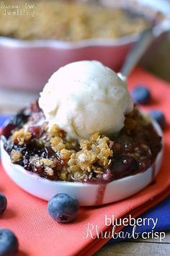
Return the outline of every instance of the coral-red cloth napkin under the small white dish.
{"type": "MultiPolygon", "coordinates": [[[[104,216],[125,218],[130,214],[139,216],[144,211],[156,205],[169,195],[170,166],[170,86],[168,83],[153,77],[143,69],[135,69],[128,80],[130,89],[136,84],[145,84],[151,89],[152,103],[145,108],[159,108],[164,111],[167,127],[164,131],[165,153],[161,171],[156,177],[156,183],[149,185],[137,195],[126,200],[102,207],[84,207],[79,210],[79,216],[73,223],[57,223],[47,212],[47,202],[27,194],[17,187],[11,179],[0,170],[0,191],[8,199],[8,208],[0,217],[1,227],[12,229],[19,238],[19,255],[50,256],[55,255],[91,255],[107,242],[107,239],[97,237],[92,239],[86,228],[89,224],[97,225],[99,230],[109,231],[112,226],[106,226],[104,216]],[[86,236],[89,236],[86,238],[86,236]]],[[[122,229],[119,226],[117,231],[122,229]]],[[[91,232],[94,236],[97,232],[91,232]]]]}

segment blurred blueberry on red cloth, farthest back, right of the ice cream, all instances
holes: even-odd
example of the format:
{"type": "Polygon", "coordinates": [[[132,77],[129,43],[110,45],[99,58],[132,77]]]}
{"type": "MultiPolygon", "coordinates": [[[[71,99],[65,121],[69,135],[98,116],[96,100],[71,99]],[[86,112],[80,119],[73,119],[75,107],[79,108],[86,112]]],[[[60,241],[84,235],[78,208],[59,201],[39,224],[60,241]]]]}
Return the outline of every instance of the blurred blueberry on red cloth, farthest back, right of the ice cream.
{"type": "Polygon", "coordinates": [[[147,104],[151,99],[150,91],[143,85],[136,86],[131,95],[135,103],[147,104]]]}

